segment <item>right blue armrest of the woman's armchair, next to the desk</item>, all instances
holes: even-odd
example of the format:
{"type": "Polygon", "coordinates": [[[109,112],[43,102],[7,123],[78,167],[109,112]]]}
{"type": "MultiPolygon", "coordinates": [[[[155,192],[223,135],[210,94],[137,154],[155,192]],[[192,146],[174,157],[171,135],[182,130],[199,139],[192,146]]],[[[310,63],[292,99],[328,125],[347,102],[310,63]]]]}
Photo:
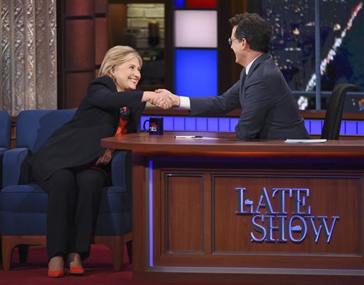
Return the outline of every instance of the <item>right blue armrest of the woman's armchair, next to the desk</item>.
{"type": "Polygon", "coordinates": [[[114,153],[111,162],[112,185],[131,190],[132,161],[130,151],[120,150],[114,153]]]}

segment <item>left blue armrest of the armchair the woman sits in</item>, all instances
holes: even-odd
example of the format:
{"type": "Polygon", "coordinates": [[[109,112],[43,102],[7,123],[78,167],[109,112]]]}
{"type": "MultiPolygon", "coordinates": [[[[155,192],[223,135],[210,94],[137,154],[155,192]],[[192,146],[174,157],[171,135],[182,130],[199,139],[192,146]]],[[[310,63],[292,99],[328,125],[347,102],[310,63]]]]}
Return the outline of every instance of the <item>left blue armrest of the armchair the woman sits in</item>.
{"type": "Polygon", "coordinates": [[[3,157],[3,187],[29,182],[28,148],[6,150],[3,157]]]}

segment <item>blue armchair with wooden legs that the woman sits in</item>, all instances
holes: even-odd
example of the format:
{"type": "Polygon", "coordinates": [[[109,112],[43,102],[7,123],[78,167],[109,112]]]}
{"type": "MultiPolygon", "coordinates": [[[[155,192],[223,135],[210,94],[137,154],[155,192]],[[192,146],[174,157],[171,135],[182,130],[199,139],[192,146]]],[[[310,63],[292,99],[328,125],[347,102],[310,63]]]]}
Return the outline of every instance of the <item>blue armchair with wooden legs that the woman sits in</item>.
{"type": "MultiPolygon", "coordinates": [[[[48,196],[31,177],[27,158],[53,131],[72,118],[75,110],[24,110],[16,122],[16,148],[4,154],[4,187],[0,192],[0,234],[5,271],[14,247],[45,245],[48,196]]],[[[102,190],[94,244],[112,252],[114,271],[122,269],[124,245],[131,260],[132,197],[130,152],[112,158],[112,186],[102,190]]]]}

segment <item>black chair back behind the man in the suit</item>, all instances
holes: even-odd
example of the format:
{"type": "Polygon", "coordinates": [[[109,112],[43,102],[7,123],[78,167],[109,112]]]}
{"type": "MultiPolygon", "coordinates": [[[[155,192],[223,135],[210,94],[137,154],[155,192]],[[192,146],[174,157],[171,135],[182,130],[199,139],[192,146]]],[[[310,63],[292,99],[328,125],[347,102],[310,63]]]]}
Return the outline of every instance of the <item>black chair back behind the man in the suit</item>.
{"type": "Polygon", "coordinates": [[[350,83],[341,83],[333,88],[328,108],[326,110],[325,120],[321,138],[327,140],[338,140],[340,135],[341,120],[343,118],[344,98],[348,91],[355,91],[358,88],[350,83]]]}

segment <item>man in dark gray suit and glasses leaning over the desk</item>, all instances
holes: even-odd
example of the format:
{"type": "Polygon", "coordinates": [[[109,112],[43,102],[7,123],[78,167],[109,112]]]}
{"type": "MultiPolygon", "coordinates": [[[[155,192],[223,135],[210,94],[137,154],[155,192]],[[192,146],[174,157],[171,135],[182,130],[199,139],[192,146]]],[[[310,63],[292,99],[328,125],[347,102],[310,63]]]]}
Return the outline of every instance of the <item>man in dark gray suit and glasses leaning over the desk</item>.
{"type": "Polygon", "coordinates": [[[191,110],[191,115],[220,115],[242,108],[235,126],[240,139],[309,139],[291,90],[267,53],[272,33],[267,22],[258,14],[244,13],[235,15],[230,24],[228,42],[235,62],[244,67],[237,83],[219,96],[182,97],[165,89],[156,92],[168,94],[173,105],[191,110]]]}

